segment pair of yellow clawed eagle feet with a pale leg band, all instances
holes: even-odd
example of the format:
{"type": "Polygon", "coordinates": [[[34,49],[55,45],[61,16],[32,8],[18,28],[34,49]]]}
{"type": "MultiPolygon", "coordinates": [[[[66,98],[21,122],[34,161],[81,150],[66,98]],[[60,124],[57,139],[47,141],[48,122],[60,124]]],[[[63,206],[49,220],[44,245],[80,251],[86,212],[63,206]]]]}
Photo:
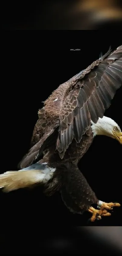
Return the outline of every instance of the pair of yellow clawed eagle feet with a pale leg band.
{"type": "Polygon", "coordinates": [[[95,219],[101,219],[101,216],[110,216],[110,212],[107,212],[107,210],[112,210],[113,207],[119,207],[119,203],[105,203],[102,201],[99,201],[97,204],[97,209],[94,209],[93,207],[89,207],[88,211],[92,213],[91,222],[94,222],[95,219]]]}

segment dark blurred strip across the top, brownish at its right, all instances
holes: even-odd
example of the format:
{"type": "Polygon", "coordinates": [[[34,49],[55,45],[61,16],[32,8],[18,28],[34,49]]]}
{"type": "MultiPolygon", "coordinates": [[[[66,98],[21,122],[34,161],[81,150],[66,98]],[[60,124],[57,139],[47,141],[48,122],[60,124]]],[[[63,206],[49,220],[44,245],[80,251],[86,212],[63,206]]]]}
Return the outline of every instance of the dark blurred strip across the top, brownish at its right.
{"type": "MultiPolygon", "coordinates": [[[[122,19],[119,13],[122,11],[121,0],[102,1],[102,5],[95,4],[95,0],[87,0],[93,2],[94,8],[81,11],[78,2],[84,0],[44,0],[35,2],[2,2],[2,29],[3,30],[84,30],[84,29],[102,29],[111,30],[121,29],[122,19]],[[109,2],[109,4],[105,2],[109,2]],[[95,5],[97,8],[95,8],[95,5]],[[79,6],[79,7],[78,7],[79,6]],[[99,6],[99,8],[98,8],[99,6]],[[93,20],[94,15],[101,16],[100,11],[106,10],[102,19],[93,20]],[[112,13],[111,13],[112,8],[112,13]],[[111,16],[109,16],[109,11],[111,16]],[[115,12],[115,14],[114,14],[115,12]],[[92,14],[92,15],[91,15],[92,14]],[[118,15],[118,18],[117,18],[118,15]]],[[[96,2],[98,2],[96,0],[96,2]]],[[[89,5],[89,4],[88,4],[89,5]]]]}

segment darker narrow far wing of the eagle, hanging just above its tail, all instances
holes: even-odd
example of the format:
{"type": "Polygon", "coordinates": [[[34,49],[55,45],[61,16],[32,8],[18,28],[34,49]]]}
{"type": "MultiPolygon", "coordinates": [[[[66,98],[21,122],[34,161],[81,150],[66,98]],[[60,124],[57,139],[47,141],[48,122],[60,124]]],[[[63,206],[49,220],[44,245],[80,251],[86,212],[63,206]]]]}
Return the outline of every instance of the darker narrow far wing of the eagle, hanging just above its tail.
{"type": "Polygon", "coordinates": [[[37,159],[39,154],[41,155],[59,125],[59,118],[57,116],[52,118],[44,109],[38,111],[38,117],[31,139],[31,148],[18,164],[18,168],[28,167],[37,159]]]}

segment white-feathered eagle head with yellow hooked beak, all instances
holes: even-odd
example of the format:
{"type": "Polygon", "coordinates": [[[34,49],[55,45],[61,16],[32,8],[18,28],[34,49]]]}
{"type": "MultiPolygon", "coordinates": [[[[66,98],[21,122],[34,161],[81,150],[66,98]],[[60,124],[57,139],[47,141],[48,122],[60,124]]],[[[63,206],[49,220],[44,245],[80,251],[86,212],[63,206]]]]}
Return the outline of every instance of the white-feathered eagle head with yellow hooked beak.
{"type": "Polygon", "coordinates": [[[94,124],[93,121],[91,121],[91,129],[92,132],[95,135],[106,135],[113,139],[116,139],[117,141],[122,144],[122,132],[119,127],[119,125],[112,120],[109,117],[103,116],[103,118],[98,119],[97,124],[94,124]]]}

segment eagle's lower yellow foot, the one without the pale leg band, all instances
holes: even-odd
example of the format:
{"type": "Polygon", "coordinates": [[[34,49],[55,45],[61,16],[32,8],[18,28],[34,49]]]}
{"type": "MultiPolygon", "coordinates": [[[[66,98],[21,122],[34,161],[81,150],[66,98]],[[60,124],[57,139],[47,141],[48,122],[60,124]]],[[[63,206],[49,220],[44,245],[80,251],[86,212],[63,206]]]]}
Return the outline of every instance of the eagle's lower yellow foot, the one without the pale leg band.
{"type": "Polygon", "coordinates": [[[92,213],[91,222],[94,222],[96,219],[101,219],[101,216],[111,215],[109,212],[107,212],[107,210],[104,210],[104,209],[97,210],[93,207],[89,207],[88,211],[92,213]]]}

